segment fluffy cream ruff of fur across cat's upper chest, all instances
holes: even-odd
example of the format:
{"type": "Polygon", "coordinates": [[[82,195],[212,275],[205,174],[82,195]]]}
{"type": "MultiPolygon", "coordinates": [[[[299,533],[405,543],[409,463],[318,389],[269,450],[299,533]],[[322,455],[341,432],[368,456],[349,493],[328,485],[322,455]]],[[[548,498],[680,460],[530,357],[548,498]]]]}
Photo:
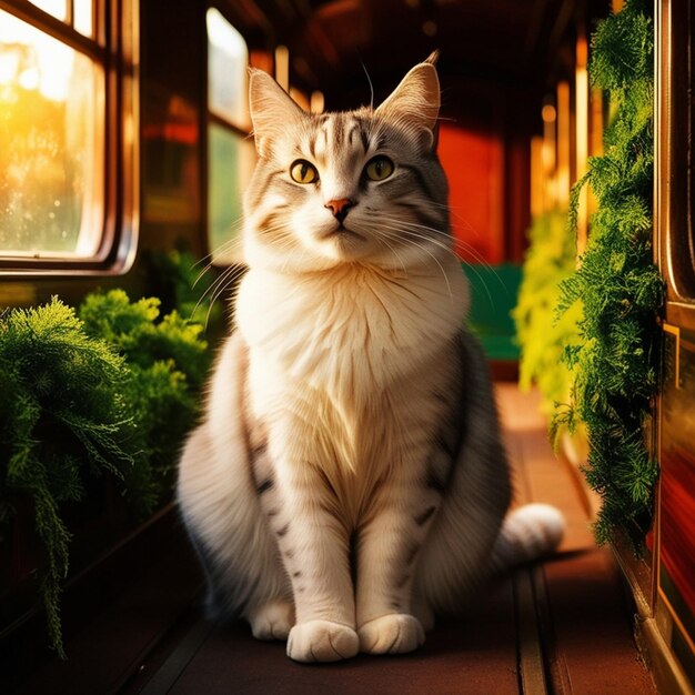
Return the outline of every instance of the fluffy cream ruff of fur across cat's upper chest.
{"type": "Polygon", "coordinates": [[[359,264],[295,275],[251,270],[236,319],[274,379],[359,410],[419,373],[457,333],[467,301],[453,256],[407,273],[359,264]]]}

